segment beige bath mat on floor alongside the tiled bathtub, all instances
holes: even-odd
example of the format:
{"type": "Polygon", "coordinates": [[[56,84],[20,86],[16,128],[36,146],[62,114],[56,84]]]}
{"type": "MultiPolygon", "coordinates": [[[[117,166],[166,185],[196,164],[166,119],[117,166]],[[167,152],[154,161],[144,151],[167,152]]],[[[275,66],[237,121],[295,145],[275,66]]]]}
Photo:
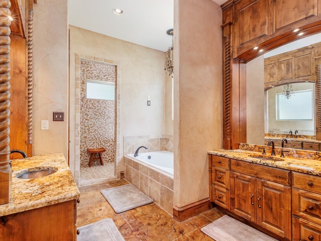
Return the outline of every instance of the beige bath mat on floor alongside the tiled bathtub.
{"type": "Polygon", "coordinates": [[[104,195],[116,213],[153,202],[150,197],[146,196],[132,184],[107,188],[100,192],[104,195]]]}

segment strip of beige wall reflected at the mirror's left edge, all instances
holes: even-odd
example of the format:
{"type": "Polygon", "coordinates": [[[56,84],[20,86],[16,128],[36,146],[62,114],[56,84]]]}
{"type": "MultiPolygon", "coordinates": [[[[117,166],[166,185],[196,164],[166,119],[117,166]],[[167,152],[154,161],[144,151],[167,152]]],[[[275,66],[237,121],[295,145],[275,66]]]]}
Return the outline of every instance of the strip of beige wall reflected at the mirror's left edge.
{"type": "Polygon", "coordinates": [[[264,145],[264,56],[246,64],[247,143],[264,145]]]}

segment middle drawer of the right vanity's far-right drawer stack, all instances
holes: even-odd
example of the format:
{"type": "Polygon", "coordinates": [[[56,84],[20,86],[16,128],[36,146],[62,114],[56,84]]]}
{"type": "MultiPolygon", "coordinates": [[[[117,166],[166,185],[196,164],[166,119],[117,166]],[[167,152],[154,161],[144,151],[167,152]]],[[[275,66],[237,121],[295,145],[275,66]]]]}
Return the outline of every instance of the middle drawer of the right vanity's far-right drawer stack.
{"type": "Polygon", "coordinates": [[[292,188],[292,213],[321,225],[321,195],[292,188]]]}

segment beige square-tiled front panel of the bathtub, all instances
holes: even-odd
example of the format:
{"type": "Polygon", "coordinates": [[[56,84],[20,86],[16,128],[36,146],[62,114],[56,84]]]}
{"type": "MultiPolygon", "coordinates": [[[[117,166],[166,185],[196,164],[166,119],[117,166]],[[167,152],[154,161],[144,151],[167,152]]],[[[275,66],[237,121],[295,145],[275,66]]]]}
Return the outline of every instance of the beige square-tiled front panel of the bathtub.
{"type": "Polygon", "coordinates": [[[152,198],[171,216],[174,206],[174,180],[125,157],[125,179],[152,198]]]}

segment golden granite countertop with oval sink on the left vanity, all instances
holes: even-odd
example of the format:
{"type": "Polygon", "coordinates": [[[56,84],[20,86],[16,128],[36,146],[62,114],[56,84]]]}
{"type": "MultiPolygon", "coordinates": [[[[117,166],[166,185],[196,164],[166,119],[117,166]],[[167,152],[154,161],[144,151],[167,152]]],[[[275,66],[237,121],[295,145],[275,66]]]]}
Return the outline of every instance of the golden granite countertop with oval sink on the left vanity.
{"type": "Polygon", "coordinates": [[[62,153],[15,159],[12,160],[12,169],[12,199],[0,205],[0,216],[70,201],[80,196],[62,153]],[[36,179],[16,177],[25,169],[40,167],[52,167],[57,172],[36,179]]]}

